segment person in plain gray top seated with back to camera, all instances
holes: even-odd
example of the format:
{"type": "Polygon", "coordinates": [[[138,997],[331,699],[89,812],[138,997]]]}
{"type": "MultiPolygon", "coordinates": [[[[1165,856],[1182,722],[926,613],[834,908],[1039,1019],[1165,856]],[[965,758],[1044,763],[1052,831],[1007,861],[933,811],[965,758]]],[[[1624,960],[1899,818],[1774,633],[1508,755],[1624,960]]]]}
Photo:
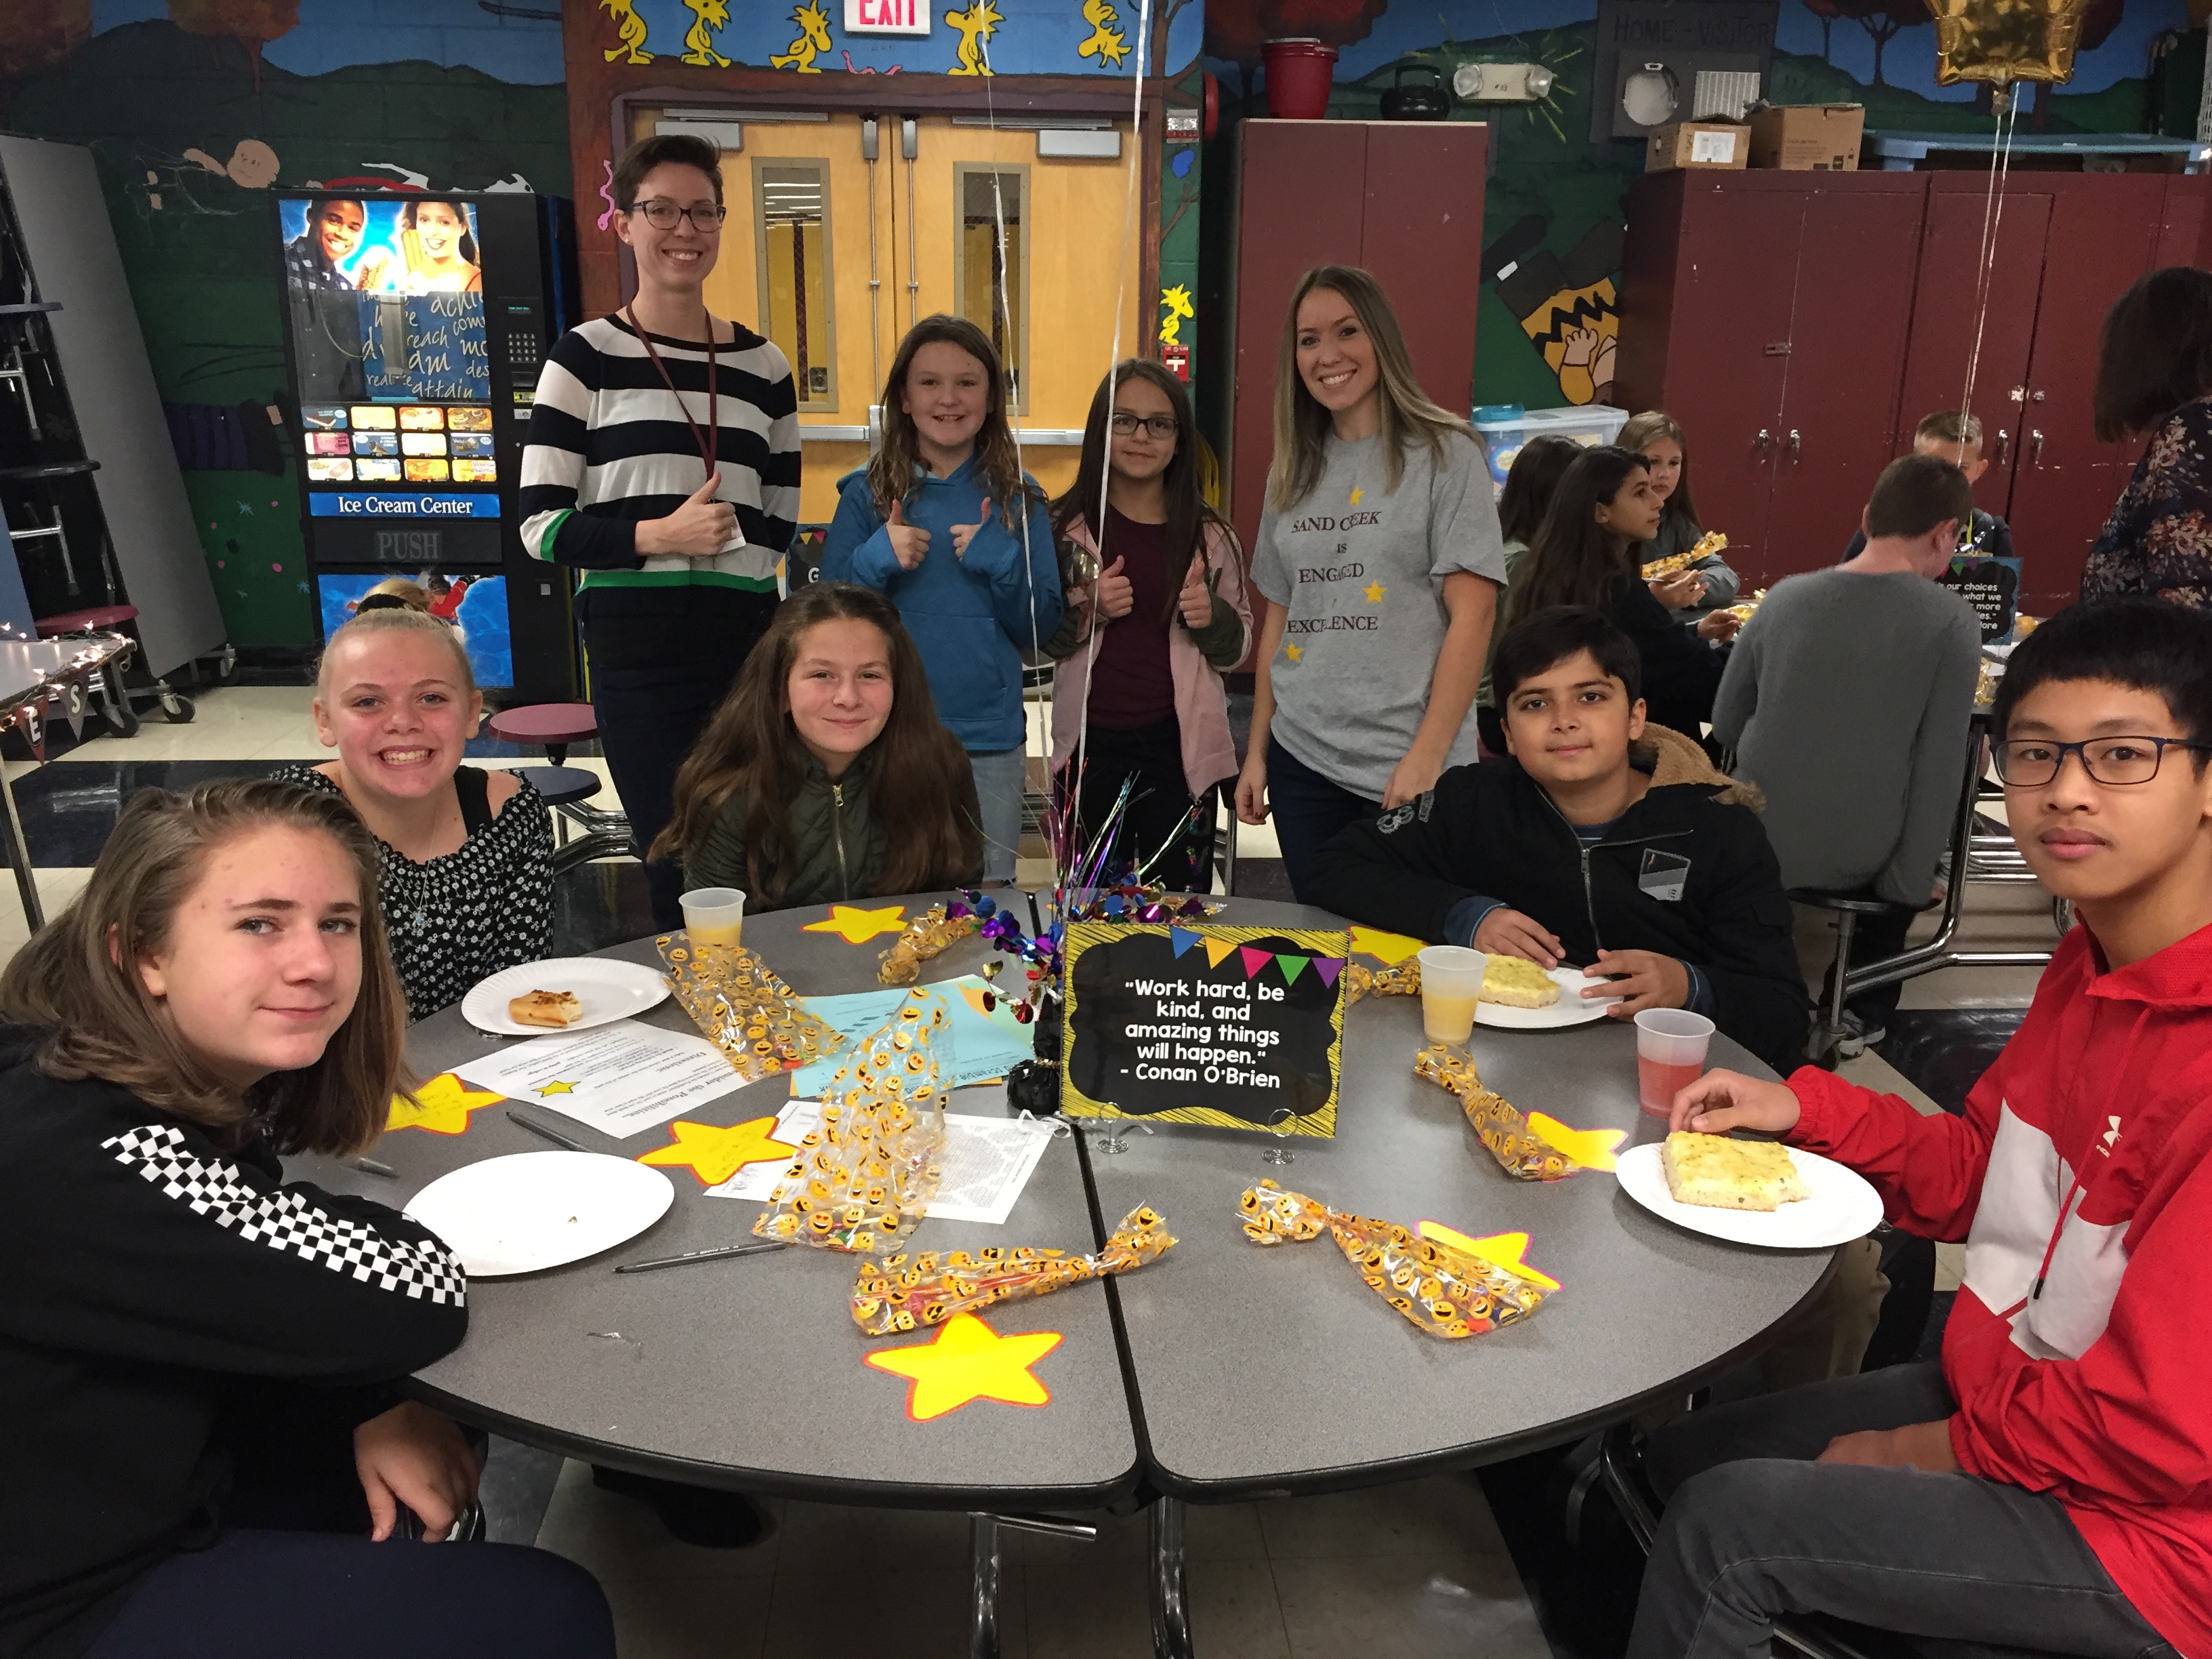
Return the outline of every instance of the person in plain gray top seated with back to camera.
{"type": "MultiPolygon", "coordinates": [[[[1712,701],[1712,734],[1736,752],[1736,776],[1765,790],[1783,883],[1909,907],[1860,916],[1854,962],[1905,949],[1958,816],[1982,628],[1933,577],[1971,513],[1966,473],[1949,460],[1889,462],[1860,553],[1776,582],[1736,635],[1712,701]]],[[[1843,1053],[1882,1042],[1900,991],[1851,1000],[1843,1053]]]]}

